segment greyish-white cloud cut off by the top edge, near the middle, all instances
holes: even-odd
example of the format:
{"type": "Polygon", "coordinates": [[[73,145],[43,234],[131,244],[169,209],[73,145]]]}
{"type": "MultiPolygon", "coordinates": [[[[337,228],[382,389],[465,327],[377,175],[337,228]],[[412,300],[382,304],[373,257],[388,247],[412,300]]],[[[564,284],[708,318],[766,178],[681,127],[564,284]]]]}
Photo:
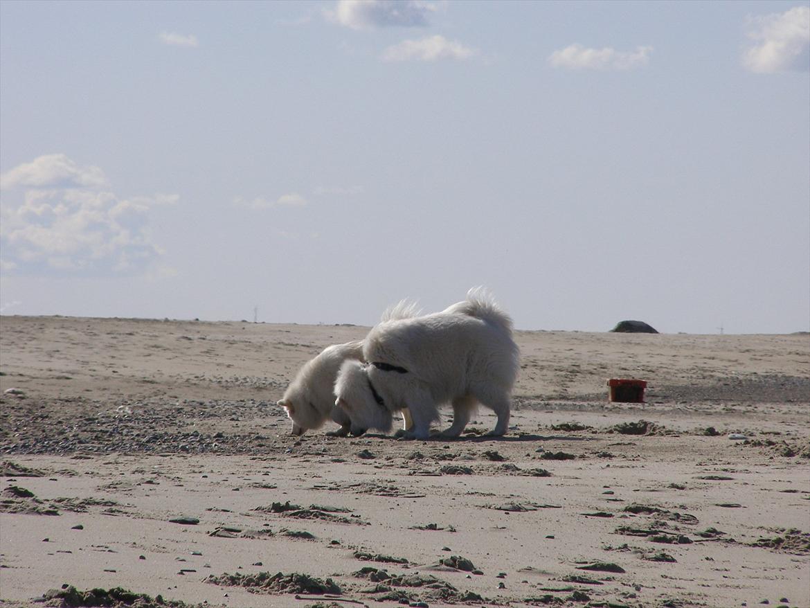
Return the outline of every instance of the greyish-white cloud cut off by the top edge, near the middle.
{"type": "Polygon", "coordinates": [[[428,13],[435,10],[420,0],[339,0],[326,17],[352,29],[424,27],[428,13]]]}

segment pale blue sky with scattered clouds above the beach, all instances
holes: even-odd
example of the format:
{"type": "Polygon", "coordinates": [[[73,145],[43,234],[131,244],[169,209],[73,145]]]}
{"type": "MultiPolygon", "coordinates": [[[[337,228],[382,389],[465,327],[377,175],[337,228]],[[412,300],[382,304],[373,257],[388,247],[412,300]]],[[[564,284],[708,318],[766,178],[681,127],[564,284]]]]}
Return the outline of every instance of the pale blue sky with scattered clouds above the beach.
{"type": "Polygon", "coordinates": [[[810,2],[0,2],[0,313],[810,329],[810,2]]]}

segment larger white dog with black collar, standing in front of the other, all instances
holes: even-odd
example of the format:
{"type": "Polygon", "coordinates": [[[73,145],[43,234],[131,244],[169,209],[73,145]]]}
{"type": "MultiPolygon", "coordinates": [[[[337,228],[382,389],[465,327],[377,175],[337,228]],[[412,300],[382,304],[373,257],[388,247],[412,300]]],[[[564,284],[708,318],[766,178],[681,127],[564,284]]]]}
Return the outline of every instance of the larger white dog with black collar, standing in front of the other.
{"type": "Polygon", "coordinates": [[[458,437],[480,403],[497,414],[488,435],[504,435],[519,358],[512,319],[488,291],[470,289],[466,300],[441,312],[387,319],[372,328],[363,340],[368,363],[340,367],[335,406],[355,434],[388,432],[393,413],[407,409],[412,424],[404,435],[427,439],[439,404],[452,403],[454,415],[441,435],[458,437]]]}

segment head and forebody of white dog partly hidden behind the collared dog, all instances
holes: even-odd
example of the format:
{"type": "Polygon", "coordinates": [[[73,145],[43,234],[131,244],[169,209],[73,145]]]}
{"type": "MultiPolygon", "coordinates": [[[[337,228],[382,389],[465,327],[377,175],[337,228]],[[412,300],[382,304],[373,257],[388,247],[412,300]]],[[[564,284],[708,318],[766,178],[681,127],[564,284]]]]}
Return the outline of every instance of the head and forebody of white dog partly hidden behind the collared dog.
{"type": "Polygon", "coordinates": [[[304,435],[307,430],[320,428],[327,417],[340,425],[340,430],[328,435],[347,435],[350,421],[346,413],[335,407],[333,387],[343,362],[361,358],[363,343],[347,342],[327,346],[301,367],[278,402],[292,420],[292,435],[304,435]]]}

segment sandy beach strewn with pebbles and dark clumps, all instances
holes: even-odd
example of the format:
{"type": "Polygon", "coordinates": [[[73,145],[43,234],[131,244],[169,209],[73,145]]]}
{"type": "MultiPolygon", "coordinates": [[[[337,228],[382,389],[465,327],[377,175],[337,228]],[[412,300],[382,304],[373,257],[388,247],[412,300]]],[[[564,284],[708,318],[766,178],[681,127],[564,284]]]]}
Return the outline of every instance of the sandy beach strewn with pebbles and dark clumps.
{"type": "Polygon", "coordinates": [[[0,605],[810,606],[807,334],[516,332],[503,438],[291,436],[367,331],[2,317],[0,605]]]}

